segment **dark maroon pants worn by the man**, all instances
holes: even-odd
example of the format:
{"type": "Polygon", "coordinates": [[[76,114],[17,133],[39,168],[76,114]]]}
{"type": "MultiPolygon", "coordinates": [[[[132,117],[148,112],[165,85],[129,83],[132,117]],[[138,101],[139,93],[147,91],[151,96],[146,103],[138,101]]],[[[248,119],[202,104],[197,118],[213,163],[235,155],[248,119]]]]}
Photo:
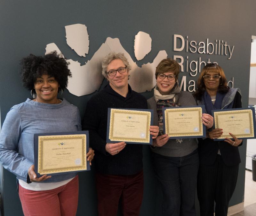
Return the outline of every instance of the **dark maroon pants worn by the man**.
{"type": "Polygon", "coordinates": [[[99,216],[115,216],[121,197],[124,216],[140,214],[143,171],[134,175],[96,174],[99,216]]]}

